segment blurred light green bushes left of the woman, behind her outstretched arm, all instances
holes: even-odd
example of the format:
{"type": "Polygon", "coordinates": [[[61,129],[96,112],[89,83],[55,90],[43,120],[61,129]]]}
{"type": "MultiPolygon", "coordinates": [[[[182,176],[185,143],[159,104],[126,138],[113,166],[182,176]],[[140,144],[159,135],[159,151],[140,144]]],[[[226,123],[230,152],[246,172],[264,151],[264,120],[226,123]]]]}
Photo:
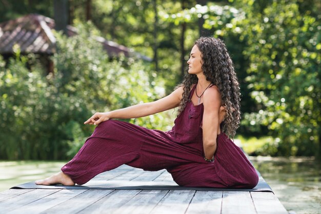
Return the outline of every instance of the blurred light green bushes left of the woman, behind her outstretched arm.
{"type": "MultiPolygon", "coordinates": [[[[1,159],[66,159],[82,146],[93,126],[84,125],[95,111],[108,111],[165,95],[164,81],[141,61],[110,61],[95,41],[91,25],[79,35],[59,33],[53,56],[54,74],[38,66],[26,68],[19,56],[0,60],[1,159]]],[[[169,113],[133,121],[148,128],[168,129],[169,113]]]]}

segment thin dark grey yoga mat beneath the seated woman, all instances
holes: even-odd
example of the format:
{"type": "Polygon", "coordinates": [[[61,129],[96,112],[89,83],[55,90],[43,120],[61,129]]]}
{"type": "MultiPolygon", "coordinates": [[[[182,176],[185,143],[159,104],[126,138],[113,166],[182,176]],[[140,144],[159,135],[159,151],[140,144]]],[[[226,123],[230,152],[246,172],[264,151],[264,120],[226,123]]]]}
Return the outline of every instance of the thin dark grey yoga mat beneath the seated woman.
{"type": "Polygon", "coordinates": [[[11,189],[139,189],[139,190],[200,190],[200,191],[260,191],[273,192],[271,187],[262,177],[253,189],[234,189],[234,188],[207,188],[207,187],[182,187],[168,181],[102,181],[92,180],[85,185],[36,185],[34,182],[19,184],[11,189]]]}

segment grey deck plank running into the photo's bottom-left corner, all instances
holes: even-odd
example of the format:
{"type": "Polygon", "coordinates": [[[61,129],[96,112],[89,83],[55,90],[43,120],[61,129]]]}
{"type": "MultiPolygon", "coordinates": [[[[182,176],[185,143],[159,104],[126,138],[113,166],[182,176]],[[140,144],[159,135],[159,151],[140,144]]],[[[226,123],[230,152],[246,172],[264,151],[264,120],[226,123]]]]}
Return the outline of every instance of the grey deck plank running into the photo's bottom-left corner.
{"type": "Polygon", "coordinates": [[[30,204],[34,201],[49,196],[50,194],[53,194],[60,190],[61,189],[36,189],[34,191],[29,191],[9,200],[1,202],[0,210],[2,213],[7,213],[9,211],[18,209],[26,204],[30,204]]]}

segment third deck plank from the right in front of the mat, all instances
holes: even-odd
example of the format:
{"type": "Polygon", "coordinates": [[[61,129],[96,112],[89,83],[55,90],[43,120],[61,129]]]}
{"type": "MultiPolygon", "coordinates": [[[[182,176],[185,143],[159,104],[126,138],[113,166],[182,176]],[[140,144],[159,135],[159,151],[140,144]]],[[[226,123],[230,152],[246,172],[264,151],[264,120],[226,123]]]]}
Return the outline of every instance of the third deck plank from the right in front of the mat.
{"type": "Polygon", "coordinates": [[[186,214],[220,213],[223,191],[196,191],[186,214]]]}

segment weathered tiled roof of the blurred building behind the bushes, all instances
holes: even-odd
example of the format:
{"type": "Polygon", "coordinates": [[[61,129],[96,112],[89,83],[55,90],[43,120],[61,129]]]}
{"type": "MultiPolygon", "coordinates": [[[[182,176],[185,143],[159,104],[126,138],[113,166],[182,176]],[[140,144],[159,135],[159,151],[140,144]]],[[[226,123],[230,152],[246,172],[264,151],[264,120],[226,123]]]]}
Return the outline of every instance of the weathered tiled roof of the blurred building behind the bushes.
{"type": "MultiPolygon", "coordinates": [[[[13,53],[14,44],[20,46],[22,53],[54,53],[56,39],[51,31],[54,26],[55,22],[52,18],[38,14],[30,14],[0,23],[0,54],[13,53]]],[[[77,32],[74,27],[67,26],[67,34],[73,36],[77,32]]],[[[123,45],[107,41],[103,37],[95,37],[95,39],[102,43],[110,56],[124,53],[127,57],[135,55],[146,61],[151,61],[149,57],[134,52],[123,45]]]]}

